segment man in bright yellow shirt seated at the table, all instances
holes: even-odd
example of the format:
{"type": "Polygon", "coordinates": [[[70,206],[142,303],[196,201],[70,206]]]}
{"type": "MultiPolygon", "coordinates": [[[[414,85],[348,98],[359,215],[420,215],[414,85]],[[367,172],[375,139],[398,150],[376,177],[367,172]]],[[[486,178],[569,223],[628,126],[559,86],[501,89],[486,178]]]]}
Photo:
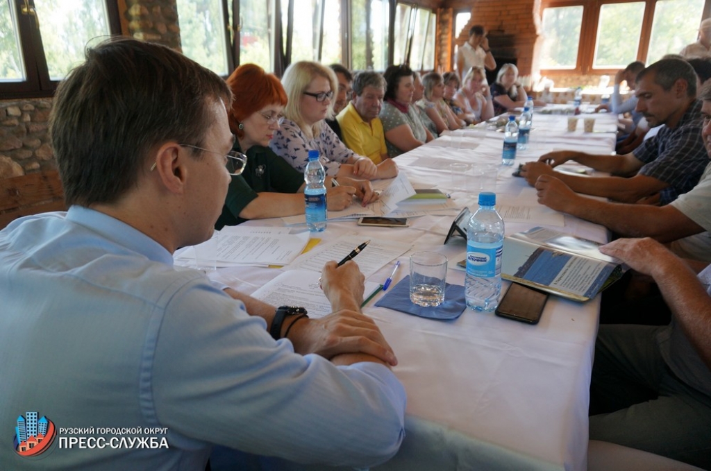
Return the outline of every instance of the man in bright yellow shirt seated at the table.
{"type": "Polygon", "coordinates": [[[353,152],[378,164],[387,158],[383,123],[378,118],[385,96],[385,79],[378,72],[358,72],[353,79],[353,99],[336,119],[343,143],[353,152]]]}

